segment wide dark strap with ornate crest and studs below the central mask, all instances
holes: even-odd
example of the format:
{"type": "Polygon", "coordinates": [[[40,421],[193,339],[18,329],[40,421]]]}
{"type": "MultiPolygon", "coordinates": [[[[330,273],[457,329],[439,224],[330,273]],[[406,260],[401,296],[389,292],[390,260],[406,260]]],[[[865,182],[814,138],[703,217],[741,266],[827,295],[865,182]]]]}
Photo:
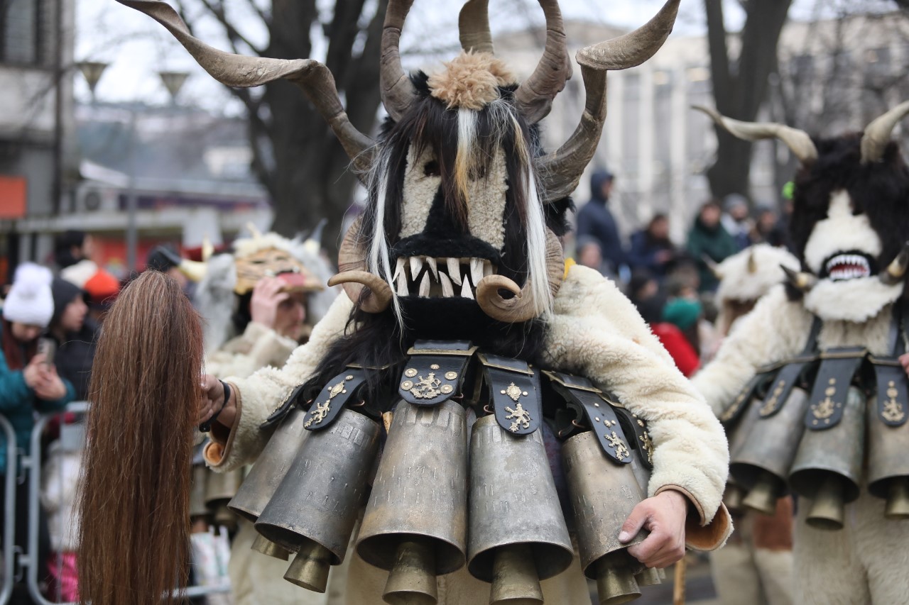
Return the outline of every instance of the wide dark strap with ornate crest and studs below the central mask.
{"type": "Polygon", "coordinates": [[[466,341],[417,341],[407,352],[398,393],[414,405],[438,405],[461,392],[476,347],[466,341]]]}

